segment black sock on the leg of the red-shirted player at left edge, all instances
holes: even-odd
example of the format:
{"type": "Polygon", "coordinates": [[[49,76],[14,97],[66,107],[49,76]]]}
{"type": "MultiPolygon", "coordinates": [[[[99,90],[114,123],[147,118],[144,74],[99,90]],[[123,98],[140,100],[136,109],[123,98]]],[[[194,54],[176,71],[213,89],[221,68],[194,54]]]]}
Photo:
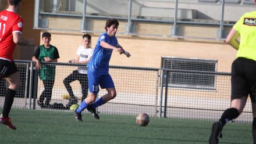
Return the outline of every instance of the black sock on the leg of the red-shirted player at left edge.
{"type": "Polygon", "coordinates": [[[16,91],[13,91],[12,89],[6,90],[5,95],[5,103],[3,105],[3,117],[9,117],[10,109],[12,108],[12,103],[15,97],[16,91]]]}

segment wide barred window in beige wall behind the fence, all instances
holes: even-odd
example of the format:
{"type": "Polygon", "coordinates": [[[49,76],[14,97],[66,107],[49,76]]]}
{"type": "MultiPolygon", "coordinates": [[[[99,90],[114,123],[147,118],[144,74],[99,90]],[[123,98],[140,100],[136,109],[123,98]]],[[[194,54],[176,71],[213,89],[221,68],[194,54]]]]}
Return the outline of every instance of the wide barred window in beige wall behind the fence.
{"type": "MultiPolygon", "coordinates": [[[[209,72],[217,70],[217,60],[183,59],[162,57],[162,68],[170,69],[168,87],[190,89],[216,89],[216,75],[209,72]]],[[[163,84],[166,83],[166,77],[163,84]]]]}

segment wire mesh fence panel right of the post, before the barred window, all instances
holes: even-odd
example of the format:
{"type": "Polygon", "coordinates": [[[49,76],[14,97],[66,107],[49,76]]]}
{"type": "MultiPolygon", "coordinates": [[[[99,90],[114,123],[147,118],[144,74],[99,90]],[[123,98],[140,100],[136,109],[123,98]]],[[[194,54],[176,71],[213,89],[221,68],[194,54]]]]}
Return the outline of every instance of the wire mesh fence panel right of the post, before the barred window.
{"type": "MultiPolygon", "coordinates": [[[[191,120],[217,121],[223,110],[230,107],[231,75],[230,73],[198,72],[189,70],[166,70],[166,75],[174,73],[215,75],[215,89],[187,89],[169,87],[169,78],[166,77],[164,88],[164,117],[184,118],[191,120]]],[[[211,78],[211,77],[209,77],[211,78]]],[[[251,123],[251,100],[248,98],[243,113],[233,121],[251,123]]]]}

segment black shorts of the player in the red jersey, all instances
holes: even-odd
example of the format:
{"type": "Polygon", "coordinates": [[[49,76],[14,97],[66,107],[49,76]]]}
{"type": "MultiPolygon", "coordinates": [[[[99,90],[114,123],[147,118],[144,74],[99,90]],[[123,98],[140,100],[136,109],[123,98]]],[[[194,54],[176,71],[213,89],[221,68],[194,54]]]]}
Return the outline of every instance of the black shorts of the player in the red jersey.
{"type": "Polygon", "coordinates": [[[0,80],[4,77],[9,77],[9,75],[14,74],[17,71],[18,69],[14,62],[0,59],[0,80]]]}

